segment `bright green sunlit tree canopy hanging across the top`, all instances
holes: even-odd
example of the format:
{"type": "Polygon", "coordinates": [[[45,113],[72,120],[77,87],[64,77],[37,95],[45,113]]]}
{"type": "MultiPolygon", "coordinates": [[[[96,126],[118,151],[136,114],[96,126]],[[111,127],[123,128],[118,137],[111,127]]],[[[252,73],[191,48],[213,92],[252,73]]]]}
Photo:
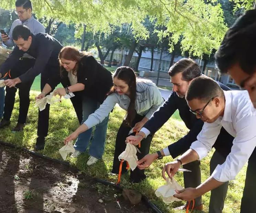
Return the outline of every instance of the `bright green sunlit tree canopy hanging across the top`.
{"type": "MultiPolygon", "coordinates": [[[[239,7],[238,0],[234,2],[239,7]]],[[[14,9],[14,3],[0,1],[0,8],[14,9]]],[[[227,30],[221,4],[216,0],[33,0],[33,5],[38,18],[85,24],[93,34],[111,34],[116,26],[127,23],[136,39],[149,37],[144,25],[149,18],[159,39],[169,39],[170,52],[181,40],[182,52],[197,57],[217,49],[227,30]]]]}

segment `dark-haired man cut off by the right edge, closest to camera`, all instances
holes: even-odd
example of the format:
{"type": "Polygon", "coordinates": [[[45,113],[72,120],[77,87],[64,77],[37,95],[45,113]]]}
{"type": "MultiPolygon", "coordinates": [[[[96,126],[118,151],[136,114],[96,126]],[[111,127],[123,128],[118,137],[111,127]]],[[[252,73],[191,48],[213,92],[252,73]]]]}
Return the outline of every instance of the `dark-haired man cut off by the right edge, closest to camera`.
{"type": "MultiPolygon", "coordinates": [[[[235,83],[248,91],[256,108],[256,8],[248,10],[237,18],[234,25],[226,32],[215,61],[222,73],[229,73],[235,83]]],[[[255,124],[252,124],[255,125],[255,124]]],[[[245,187],[241,203],[241,212],[254,209],[256,184],[256,151],[248,161],[245,187]]]]}

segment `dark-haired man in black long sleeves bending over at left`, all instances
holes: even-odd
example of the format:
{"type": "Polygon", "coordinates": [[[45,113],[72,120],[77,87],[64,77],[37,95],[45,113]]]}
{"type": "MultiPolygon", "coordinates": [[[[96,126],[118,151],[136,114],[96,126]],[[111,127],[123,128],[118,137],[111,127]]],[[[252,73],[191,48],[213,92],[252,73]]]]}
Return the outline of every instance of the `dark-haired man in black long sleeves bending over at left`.
{"type": "MultiPolygon", "coordinates": [[[[51,91],[53,91],[60,78],[58,55],[63,46],[48,34],[32,34],[30,29],[24,25],[16,26],[13,29],[12,36],[16,46],[10,57],[2,64],[0,77],[12,69],[24,53],[31,55],[36,60],[34,66],[29,68],[27,72],[14,79],[5,80],[4,84],[8,87],[14,87],[16,84],[28,82],[41,74],[41,91],[46,82],[51,87],[51,91]],[[48,79],[51,79],[51,82],[48,79]]],[[[36,150],[44,149],[45,137],[48,134],[49,109],[49,104],[46,104],[45,110],[39,111],[38,114],[36,150]]]]}

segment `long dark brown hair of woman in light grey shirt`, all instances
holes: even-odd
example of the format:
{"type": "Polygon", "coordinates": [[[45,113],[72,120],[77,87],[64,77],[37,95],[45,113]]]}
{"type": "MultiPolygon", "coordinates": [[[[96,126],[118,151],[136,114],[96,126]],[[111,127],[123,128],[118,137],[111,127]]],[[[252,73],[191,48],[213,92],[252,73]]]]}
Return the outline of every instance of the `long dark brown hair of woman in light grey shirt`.
{"type": "MultiPolygon", "coordinates": [[[[128,66],[120,66],[118,67],[114,74],[113,78],[117,77],[120,80],[123,80],[129,86],[129,98],[130,104],[126,111],[126,122],[129,126],[132,127],[132,122],[135,118],[136,111],[135,111],[135,98],[136,98],[136,75],[132,68],[128,66]]],[[[114,87],[111,88],[110,92],[107,95],[111,95],[115,92],[114,87]]]]}

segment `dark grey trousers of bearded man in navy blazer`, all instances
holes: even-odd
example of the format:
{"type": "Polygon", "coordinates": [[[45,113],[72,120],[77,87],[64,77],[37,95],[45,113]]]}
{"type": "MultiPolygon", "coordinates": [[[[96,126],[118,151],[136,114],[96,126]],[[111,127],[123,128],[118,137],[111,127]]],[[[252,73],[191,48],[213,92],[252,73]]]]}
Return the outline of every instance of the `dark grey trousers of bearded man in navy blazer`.
{"type": "MultiPolygon", "coordinates": [[[[215,170],[218,164],[225,162],[225,158],[218,152],[215,151],[210,161],[210,174],[215,170]]],[[[196,188],[201,184],[201,170],[200,161],[194,161],[183,165],[183,168],[192,172],[183,172],[185,188],[193,187],[196,188]]],[[[221,213],[224,207],[224,201],[227,195],[227,188],[229,182],[224,183],[218,188],[211,191],[211,198],[209,204],[209,213],[221,213]]],[[[195,199],[195,206],[202,204],[202,197],[195,199]]]]}

